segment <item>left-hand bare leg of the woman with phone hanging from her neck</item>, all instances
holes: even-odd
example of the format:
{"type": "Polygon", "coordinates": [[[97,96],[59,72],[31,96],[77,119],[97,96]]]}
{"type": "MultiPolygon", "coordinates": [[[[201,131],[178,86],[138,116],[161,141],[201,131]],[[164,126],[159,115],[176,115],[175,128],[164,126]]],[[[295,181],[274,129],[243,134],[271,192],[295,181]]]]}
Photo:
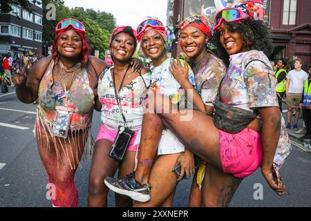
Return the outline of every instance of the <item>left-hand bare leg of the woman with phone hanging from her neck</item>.
{"type": "Polygon", "coordinates": [[[116,160],[109,157],[112,143],[109,140],[98,140],[95,143],[91,170],[88,177],[88,206],[107,206],[109,189],[104,184],[104,178],[113,177],[117,166],[116,160]]]}

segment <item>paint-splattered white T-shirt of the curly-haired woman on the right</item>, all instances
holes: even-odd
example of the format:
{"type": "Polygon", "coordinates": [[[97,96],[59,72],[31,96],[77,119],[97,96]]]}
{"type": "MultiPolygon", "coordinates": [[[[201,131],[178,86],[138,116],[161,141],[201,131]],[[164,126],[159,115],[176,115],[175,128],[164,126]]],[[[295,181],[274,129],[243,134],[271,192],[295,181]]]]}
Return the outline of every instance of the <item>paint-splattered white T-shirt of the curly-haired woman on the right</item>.
{"type": "MultiPolygon", "coordinates": [[[[276,77],[267,56],[258,50],[241,52],[230,56],[230,65],[220,86],[220,101],[247,111],[270,106],[279,108],[275,88],[276,77]],[[265,64],[261,61],[252,61],[254,59],[261,60],[265,64]]],[[[281,117],[281,134],[274,162],[281,166],[290,150],[285,120],[281,117]]]]}

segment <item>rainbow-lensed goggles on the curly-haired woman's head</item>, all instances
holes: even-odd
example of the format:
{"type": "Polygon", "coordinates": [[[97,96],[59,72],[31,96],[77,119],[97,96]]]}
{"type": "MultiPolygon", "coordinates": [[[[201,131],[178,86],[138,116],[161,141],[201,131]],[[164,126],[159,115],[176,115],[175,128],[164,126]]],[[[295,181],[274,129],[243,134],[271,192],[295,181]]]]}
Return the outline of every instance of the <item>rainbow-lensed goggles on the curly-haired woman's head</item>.
{"type": "Polygon", "coordinates": [[[223,20],[225,20],[227,22],[241,21],[241,20],[246,19],[248,17],[249,17],[249,15],[247,15],[241,9],[238,9],[238,8],[225,8],[223,10],[220,10],[218,12],[218,14],[216,15],[214,30],[218,30],[219,29],[219,26],[221,25],[221,22],[223,20]]]}

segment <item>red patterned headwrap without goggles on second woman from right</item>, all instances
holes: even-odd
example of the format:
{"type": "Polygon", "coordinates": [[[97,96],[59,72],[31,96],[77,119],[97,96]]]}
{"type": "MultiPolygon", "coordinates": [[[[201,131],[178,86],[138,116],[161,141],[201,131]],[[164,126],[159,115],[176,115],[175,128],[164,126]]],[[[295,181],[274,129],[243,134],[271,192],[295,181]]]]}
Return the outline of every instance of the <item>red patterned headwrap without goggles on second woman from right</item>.
{"type": "Polygon", "coordinates": [[[214,30],[213,30],[213,24],[209,20],[208,17],[205,15],[194,15],[192,17],[187,17],[182,23],[180,23],[179,29],[180,32],[182,29],[186,28],[187,26],[194,26],[201,30],[205,35],[207,35],[207,41],[211,39],[214,35],[214,30]]]}

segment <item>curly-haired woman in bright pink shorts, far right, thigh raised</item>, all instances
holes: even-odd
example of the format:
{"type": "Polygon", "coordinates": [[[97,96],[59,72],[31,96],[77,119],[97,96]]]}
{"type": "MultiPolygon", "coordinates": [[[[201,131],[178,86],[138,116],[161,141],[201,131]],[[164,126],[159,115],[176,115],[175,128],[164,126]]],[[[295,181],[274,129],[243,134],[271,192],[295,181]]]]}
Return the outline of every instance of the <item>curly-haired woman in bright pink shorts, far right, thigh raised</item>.
{"type": "Polygon", "coordinates": [[[161,113],[162,104],[151,116],[207,162],[201,206],[229,206],[243,178],[260,166],[270,187],[280,196],[287,194],[279,168],[290,153],[290,141],[276,78],[264,54],[271,43],[263,12],[257,3],[245,1],[216,15],[216,37],[230,65],[214,101],[214,117],[193,111],[191,120],[182,121],[180,112],[161,113]]]}

